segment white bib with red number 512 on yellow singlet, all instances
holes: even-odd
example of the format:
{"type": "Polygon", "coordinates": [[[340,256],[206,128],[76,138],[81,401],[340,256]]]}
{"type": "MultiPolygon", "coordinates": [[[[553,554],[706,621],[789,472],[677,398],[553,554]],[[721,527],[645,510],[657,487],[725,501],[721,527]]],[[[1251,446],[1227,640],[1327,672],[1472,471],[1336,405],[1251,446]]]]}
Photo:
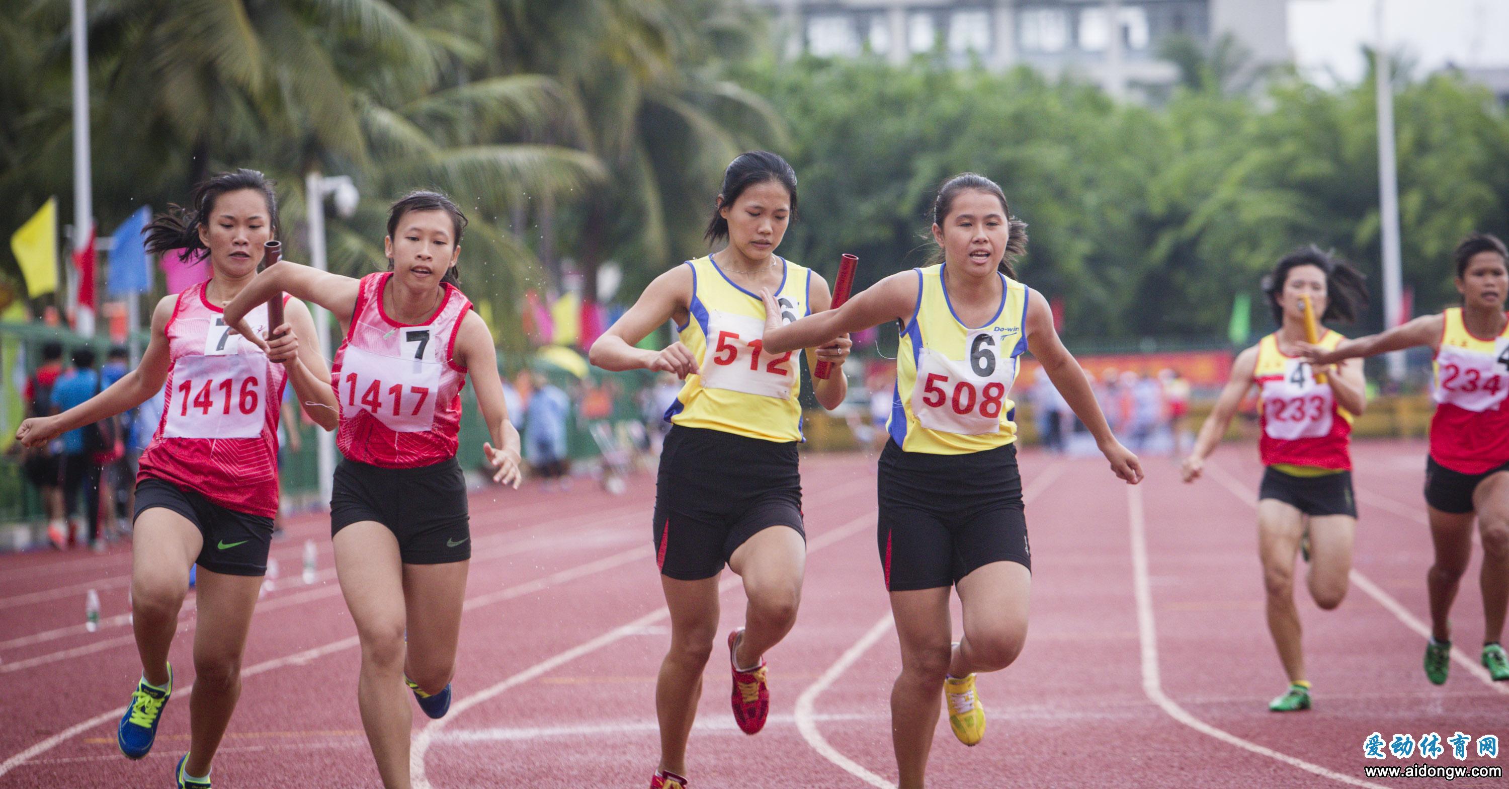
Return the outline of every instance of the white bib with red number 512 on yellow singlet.
{"type": "Polygon", "coordinates": [[[791,397],[797,383],[795,352],[765,353],[762,336],[764,320],[709,309],[702,385],[779,400],[791,397]]]}

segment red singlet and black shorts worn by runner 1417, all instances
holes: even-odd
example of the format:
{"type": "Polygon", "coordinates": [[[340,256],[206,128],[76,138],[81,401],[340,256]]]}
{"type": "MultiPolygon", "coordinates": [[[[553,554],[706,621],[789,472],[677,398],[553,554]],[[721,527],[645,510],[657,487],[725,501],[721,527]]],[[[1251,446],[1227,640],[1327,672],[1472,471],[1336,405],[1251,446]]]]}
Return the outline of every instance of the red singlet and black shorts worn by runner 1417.
{"type": "Polygon", "coordinates": [[[456,462],[466,368],[453,361],[471,302],[451,284],[429,321],[397,323],[382,306],[392,272],[361,281],[330,382],[341,404],[330,534],[376,520],[404,564],[471,558],[466,478],[456,462]]]}

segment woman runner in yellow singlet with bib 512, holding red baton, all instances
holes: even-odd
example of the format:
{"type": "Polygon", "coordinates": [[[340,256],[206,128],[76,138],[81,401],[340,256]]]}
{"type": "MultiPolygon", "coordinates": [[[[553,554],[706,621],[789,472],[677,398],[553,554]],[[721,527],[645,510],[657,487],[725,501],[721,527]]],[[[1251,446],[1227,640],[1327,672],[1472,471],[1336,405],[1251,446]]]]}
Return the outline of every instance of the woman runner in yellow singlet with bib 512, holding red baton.
{"type": "MultiPolygon", "coordinates": [[[[795,210],[791,164],[767,151],[739,155],[723,175],[706,232],[708,241],[727,238],[727,246],[656,278],[592,345],[592,364],[604,370],[658,370],[687,382],[665,412],[672,428],[650,523],[672,620],[655,688],[661,762],[652,789],[687,787],[687,736],[717,635],[723,566],[742,578],[748,596],[744,628],[727,640],[733,717],[748,735],[770,712],[765,652],[797,620],[806,563],[797,469],[801,359],[764,348],[759,296],[776,294],[783,321],[831,302],[821,276],[774,253],[795,210]],[[661,352],[635,347],[672,320],[678,342],[661,352]]],[[[809,362],[839,365],[848,348],[848,338],[836,338],[809,362]]],[[[813,383],[822,407],[844,401],[842,368],[813,383]]]]}

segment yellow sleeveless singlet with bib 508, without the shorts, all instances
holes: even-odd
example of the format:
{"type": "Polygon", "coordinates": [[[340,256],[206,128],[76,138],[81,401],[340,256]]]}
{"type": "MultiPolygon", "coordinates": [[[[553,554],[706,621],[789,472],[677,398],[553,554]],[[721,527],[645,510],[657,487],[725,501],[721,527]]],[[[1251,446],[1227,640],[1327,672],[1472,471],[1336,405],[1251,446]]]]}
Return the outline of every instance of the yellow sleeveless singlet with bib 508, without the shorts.
{"type": "Polygon", "coordinates": [[[964,326],[943,285],[943,264],[916,269],[917,306],[901,330],[890,437],[908,453],[967,454],[1017,441],[1007,395],[1028,350],[1028,287],[1000,275],[1000,308],[964,326]]]}

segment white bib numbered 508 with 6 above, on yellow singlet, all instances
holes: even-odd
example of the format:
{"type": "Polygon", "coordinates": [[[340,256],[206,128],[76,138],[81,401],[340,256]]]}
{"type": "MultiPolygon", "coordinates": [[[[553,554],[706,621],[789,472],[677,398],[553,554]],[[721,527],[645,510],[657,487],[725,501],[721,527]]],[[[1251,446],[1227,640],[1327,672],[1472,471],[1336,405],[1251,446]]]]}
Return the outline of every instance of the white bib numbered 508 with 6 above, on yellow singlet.
{"type": "Polygon", "coordinates": [[[924,347],[911,388],[917,422],[942,433],[982,436],[1000,431],[1000,412],[1016,380],[1016,359],[1002,356],[1000,339],[975,330],[966,339],[969,359],[955,361],[924,347]]]}

